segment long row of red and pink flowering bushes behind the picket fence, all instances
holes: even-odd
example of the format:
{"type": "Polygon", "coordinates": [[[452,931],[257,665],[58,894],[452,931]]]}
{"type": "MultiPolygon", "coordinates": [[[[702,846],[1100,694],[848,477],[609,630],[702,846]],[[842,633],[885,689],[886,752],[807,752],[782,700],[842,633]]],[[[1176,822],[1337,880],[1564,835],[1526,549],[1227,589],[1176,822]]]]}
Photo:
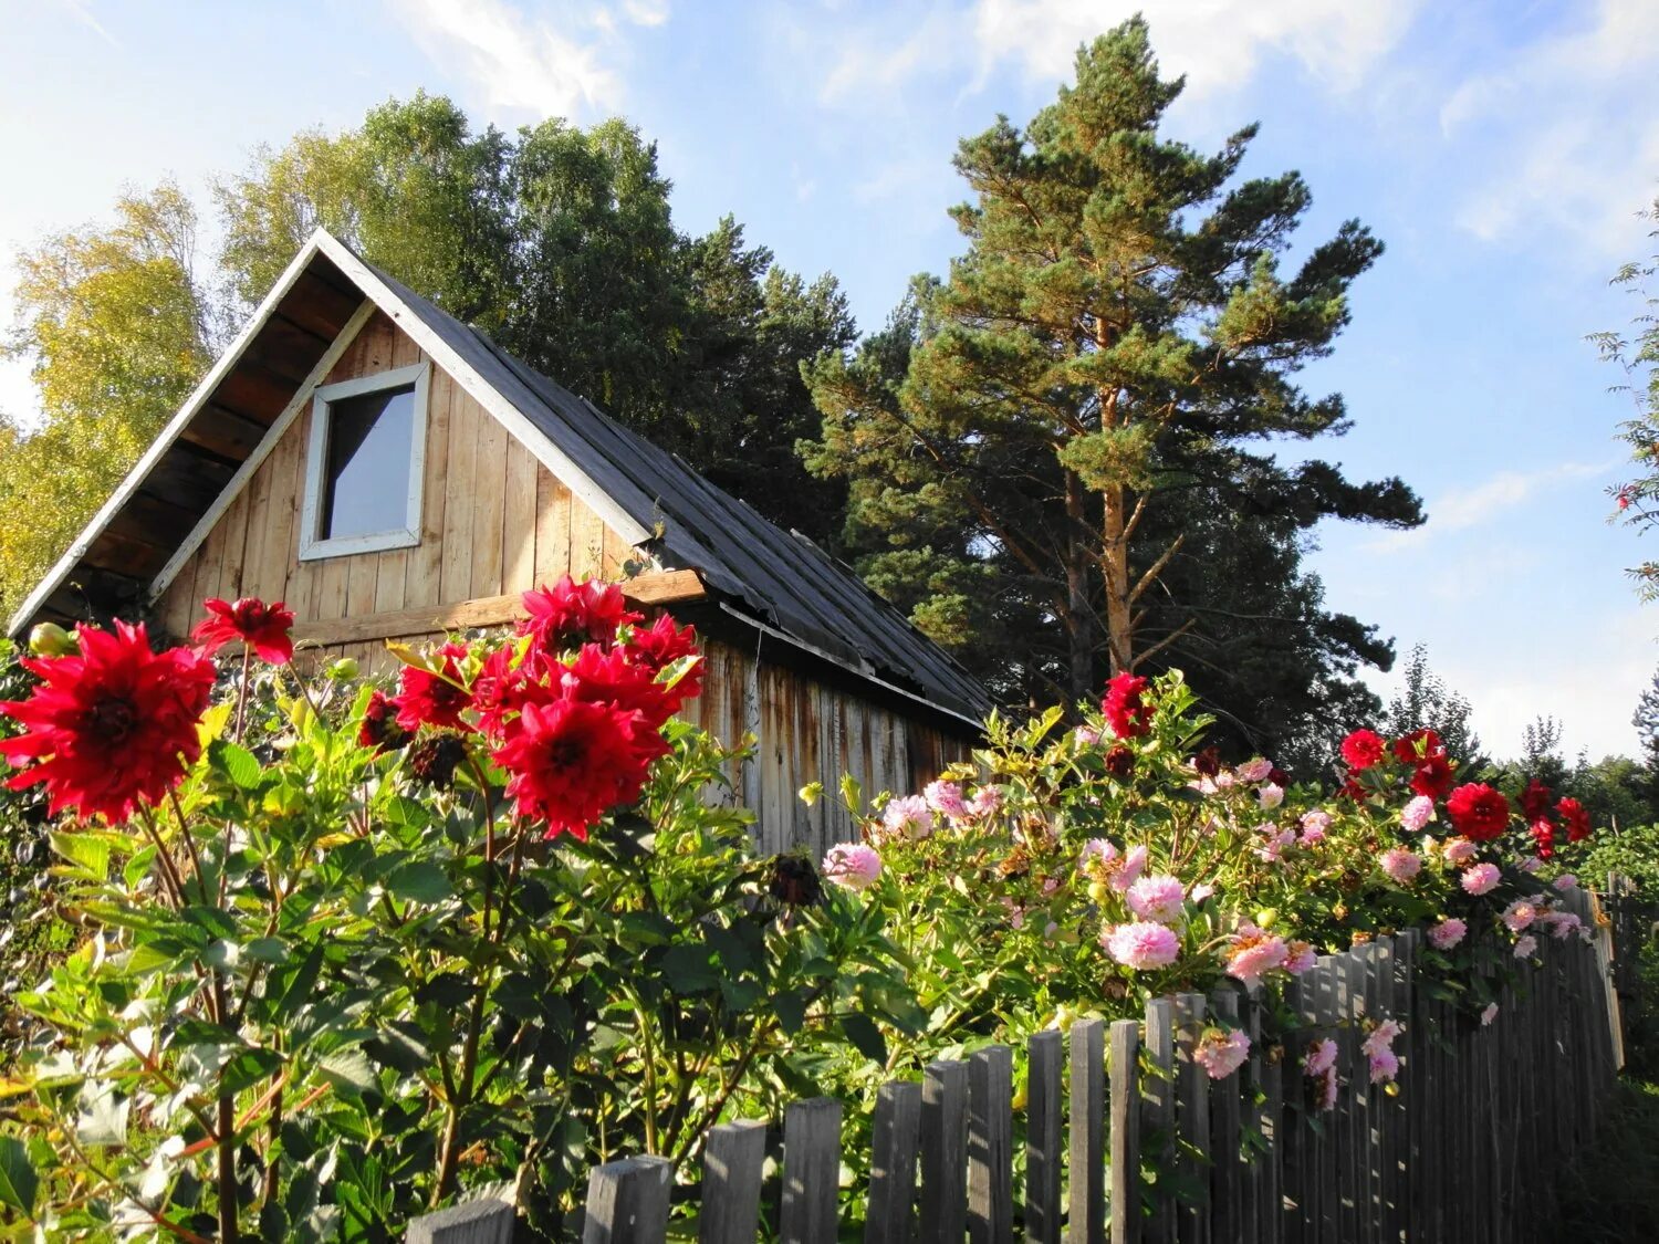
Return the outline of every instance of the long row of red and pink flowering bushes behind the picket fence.
{"type": "MultiPolygon", "coordinates": [[[[569,581],[526,604],[398,649],[397,688],[302,678],[252,600],[207,602],[196,647],[116,624],[27,662],[0,753],[85,935],[18,997],[7,1232],[393,1239],[508,1186],[561,1237],[592,1164],[690,1181],[710,1126],[818,1093],[854,1106],[856,1184],[876,1085],[964,1047],[1228,982],[1271,1008],[1405,927],[1463,1022],[1501,1022],[1535,939],[1588,934],[1541,879],[1588,834],[1571,799],[1458,783],[1432,731],[1354,731],[1334,791],[1228,766],[1178,673],[994,717],[926,791],[843,781],[859,841],[760,858],[742,741],[674,717],[690,630],[569,581]]],[[[1367,1033],[1374,1081],[1397,1035],[1367,1033]]],[[[1218,1025],[1201,1058],[1246,1050],[1218,1025]]],[[[1291,1055],[1306,1108],[1342,1091],[1291,1055]]]]}

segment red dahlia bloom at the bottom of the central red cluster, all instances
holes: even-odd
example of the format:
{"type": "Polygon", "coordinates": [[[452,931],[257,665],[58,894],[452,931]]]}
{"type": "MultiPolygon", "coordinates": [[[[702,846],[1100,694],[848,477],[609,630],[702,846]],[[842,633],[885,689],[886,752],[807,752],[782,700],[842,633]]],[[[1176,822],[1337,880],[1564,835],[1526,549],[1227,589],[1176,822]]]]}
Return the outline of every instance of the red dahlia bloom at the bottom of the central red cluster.
{"type": "Polygon", "coordinates": [[[519,816],[546,821],[547,838],[587,829],[611,808],[632,803],[650,756],[635,741],[635,718],[607,703],[526,703],[494,750],[519,816]]]}

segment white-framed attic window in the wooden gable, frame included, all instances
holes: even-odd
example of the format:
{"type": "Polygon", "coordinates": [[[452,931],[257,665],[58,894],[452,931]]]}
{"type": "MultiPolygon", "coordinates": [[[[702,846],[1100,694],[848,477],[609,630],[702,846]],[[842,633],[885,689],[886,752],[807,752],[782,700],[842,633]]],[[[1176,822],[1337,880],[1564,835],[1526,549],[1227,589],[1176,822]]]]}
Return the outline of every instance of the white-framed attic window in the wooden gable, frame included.
{"type": "Polygon", "coordinates": [[[418,363],[317,390],[300,561],[420,542],[426,375],[418,363]]]}

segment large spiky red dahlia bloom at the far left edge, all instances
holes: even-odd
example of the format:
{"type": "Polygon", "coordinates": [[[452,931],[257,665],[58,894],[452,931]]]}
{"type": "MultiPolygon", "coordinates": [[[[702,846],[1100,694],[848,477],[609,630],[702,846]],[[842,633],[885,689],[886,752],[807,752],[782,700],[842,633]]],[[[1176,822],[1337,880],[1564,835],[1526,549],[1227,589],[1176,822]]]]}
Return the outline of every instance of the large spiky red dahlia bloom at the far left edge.
{"type": "Polygon", "coordinates": [[[0,703],[23,726],[0,755],[27,765],[7,786],[43,781],[53,816],[75,808],[119,821],[163,799],[201,755],[214,667],[191,649],[151,652],[143,624],[81,627],[78,639],[76,655],[22,658],[41,682],[28,700],[0,703]]]}

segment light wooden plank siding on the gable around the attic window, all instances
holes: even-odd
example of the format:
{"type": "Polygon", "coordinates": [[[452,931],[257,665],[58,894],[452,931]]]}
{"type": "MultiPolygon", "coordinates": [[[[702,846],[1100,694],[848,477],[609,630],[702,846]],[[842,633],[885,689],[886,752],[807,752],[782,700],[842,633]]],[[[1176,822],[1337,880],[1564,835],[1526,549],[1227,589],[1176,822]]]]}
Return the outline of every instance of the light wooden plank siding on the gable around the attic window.
{"type": "MultiPolygon", "coordinates": [[[[425,360],[375,313],[325,383],[425,360]]],[[[433,368],[421,542],[300,562],[309,436],[307,408],[163,594],[168,630],[184,634],[211,595],[285,600],[297,620],[325,622],[519,592],[566,572],[617,579],[632,556],[498,420],[433,368]]]]}

